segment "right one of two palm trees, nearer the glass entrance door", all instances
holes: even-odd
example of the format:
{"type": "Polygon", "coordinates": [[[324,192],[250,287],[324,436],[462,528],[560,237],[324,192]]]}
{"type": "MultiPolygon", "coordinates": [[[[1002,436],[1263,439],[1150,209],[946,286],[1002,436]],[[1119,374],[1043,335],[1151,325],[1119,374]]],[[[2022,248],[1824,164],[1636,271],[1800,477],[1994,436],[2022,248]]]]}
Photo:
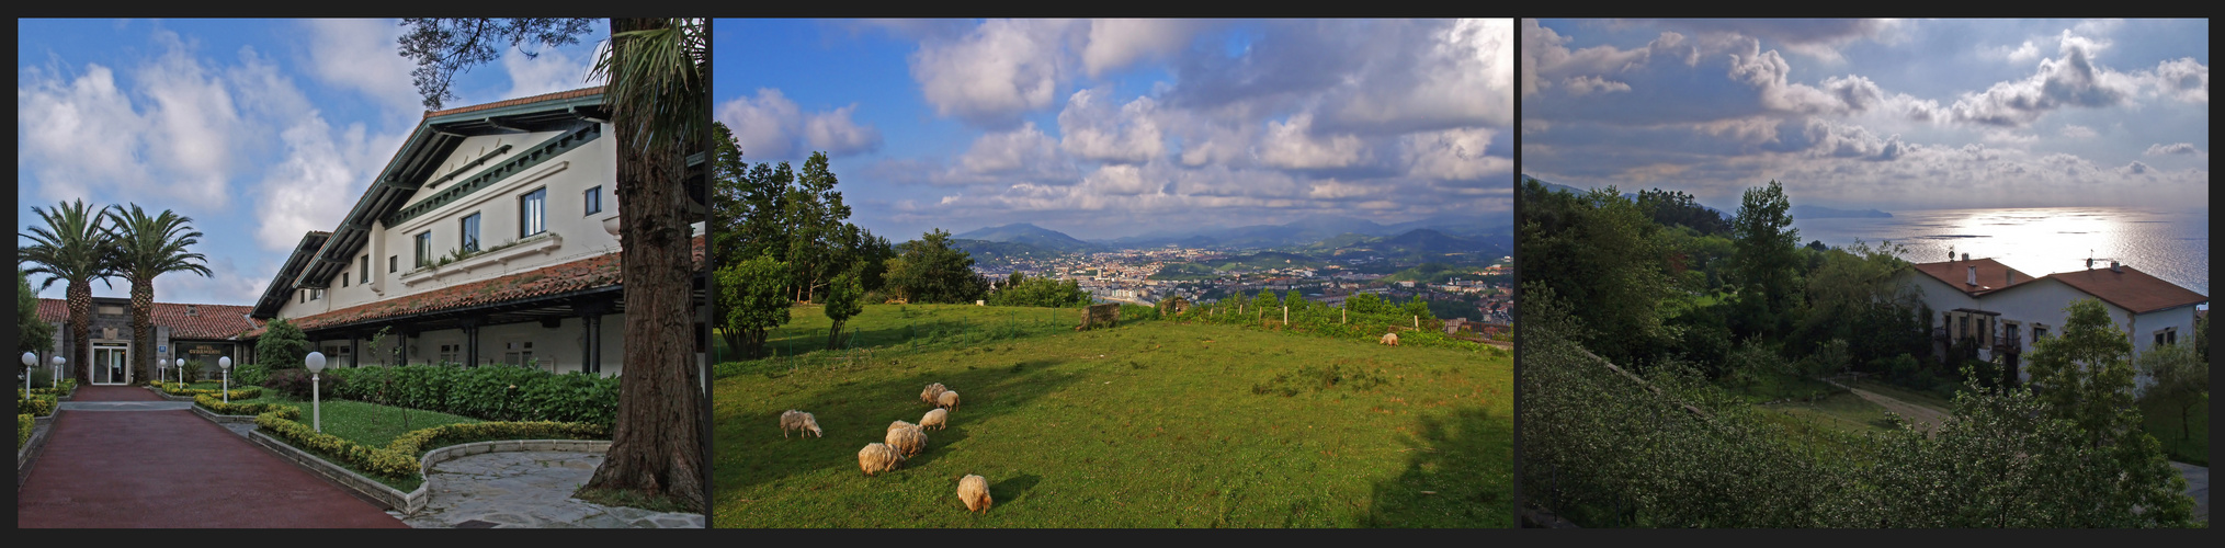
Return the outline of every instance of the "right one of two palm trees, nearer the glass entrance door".
{"type": "Polygon", "coordinates": [[[205,256],[185,252],[187,245],[200,243],[200,232],[194,229],[191,216],[180,216],[162,209],[160,216],[147,216],[136,203],[127,212],[122,205],[109,205],[100,212],[109,218],[109,236],[116,238],[116,274],[131,281],[131,341],[140,352],[131,352],[131,370],[138,379],[154,379],[154,276],[169,272],[194,272],[200,276],[214,276],[205,256]]]}

